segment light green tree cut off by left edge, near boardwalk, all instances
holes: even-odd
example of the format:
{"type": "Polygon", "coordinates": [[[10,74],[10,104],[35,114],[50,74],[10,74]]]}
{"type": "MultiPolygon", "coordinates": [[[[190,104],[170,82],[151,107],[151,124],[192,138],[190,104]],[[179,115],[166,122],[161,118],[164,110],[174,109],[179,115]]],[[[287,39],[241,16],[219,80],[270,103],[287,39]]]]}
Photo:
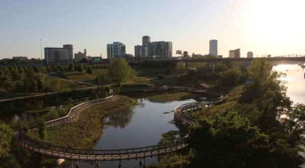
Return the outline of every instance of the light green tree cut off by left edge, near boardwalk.
{"type": "Polygon", "coordinates": [[[3,121],[0,121],[0,160],[9,156],[12,138],[12,128],[3,121]]]}

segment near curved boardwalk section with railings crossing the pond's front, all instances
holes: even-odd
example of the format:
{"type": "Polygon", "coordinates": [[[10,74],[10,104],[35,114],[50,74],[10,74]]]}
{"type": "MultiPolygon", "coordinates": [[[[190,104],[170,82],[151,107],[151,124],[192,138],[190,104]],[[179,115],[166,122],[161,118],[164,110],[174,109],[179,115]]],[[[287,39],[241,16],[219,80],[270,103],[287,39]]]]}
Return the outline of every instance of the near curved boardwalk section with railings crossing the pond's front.
{"type": "Polygon", "coordinates": [[[72,149],[39,143],[35,139],[25,135],[20,130],[15,131],[14,139],[17,144],[29,151],[55,156],[58,158],[77,160],[124,160],[157,156],[180,150],[187,146],[187,144],[183,142],[183,138],[184,137],[176,139],[173,143],[168,143],[165,145],[115,150],[72,149]]]}

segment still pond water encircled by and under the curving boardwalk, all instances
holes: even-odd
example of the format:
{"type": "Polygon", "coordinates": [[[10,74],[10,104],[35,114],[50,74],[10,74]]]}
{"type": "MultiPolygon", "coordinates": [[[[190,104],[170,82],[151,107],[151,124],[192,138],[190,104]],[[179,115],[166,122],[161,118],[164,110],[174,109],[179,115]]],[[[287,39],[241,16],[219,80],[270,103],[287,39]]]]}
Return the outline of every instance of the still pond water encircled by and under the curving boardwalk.
{"type": "MultiPolygon", "coordinates": [[[[194,102],[194,99],[153,102],[147,97],[136,98],[138,103],[106,119],[115,123],[105,126],[103,134],[94,149],[126,149],[157,145],[162,134],[169,130],[178,130],[173,124],[173,109],[181,104],[194,102]],[[166,113],[170,112],[170,113],[166,113]],[[166,113],[166,114],[164,114],[166,113]]],[[[139,159],[121,161],[124,168],[140,168],[139,159]]],[[[156,163],[156,157],[146,158],[146,166],[156,163]]],[[[143,160],[142,160],[143,162],[143,160]]],[[[75,163],[74,167],[75,167],[75,163]]],[[[99,162],[101,167],[118,167],[118,161],[99,162]]],[[[80,167],[94,167],[95,163],[79,163],[80,167]]],[[[69,166],[71,167],[71,166],[69,166]]]]}

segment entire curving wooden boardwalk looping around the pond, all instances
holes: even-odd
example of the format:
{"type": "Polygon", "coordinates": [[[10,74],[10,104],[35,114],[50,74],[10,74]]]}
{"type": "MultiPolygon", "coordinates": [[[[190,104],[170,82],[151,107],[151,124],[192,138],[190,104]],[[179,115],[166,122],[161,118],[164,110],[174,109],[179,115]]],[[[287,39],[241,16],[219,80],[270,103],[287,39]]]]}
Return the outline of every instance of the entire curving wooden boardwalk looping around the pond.
{"type": "MultiPolygon", "coordinates": [[[[218,96],[218,98],[207,101],[200,102],[192,102],[187,104],[182,104],[174,109],[174,118],[181,120],[183,123],[187,125],[195,125],[196,120],[184,114],[184,111],[189,109],[199,109],[205,105],[212,105],[215,103],[220,103],[223,101],[226,95],[209,91],[209,90],[199,90],[196,88],[190,87],[161,87],[161,88],[134,88],[127,89],[125,91],[143,91],[143,90],[178,90],[178,91],[188,91],[195,93],[208,93],[212,95],[218,96]]],[[[104,99],[93,100],[78,104],[72,107],[67,116],[58,118],[55,120],[51,120],[46,122],[48,127],[54,127],[58,125],[67,124],[70,122],[77,121],[80,113],[85,109],[107,103],[109,101],[115,101],[118,96],[112,95],[104,99]]],[[[37,124],[31,125],[29,131],[37,131],[37,124]]],[[[27,136],[24,132],[20,130],[15,131],[14,139],[18,145],[27,149],[29,151],[33,151],[36,153],[56,157],[63,159],[71,159],[78,161],[105,161],[105,160],[129,160],[129,159],[141,159],[145,157],[153,157],[162,154],[172,153],[178,151],[182,148],[187,147],[188,145],[184,142],[184,138],[175,139],[172,143],[164,144],[164,145],[155,145],[155,146],[147,146],[147,147],[139,147],[139,148],[130,148],[130,149],[113,149],[113,150],[90,150],[90,149],[72,149],[66,147],[59,147],[51,144],[38,142],[36,139],[33,139],[27,136]]],[[[143,165],[145,167],[145,163],[143,165]]]]}

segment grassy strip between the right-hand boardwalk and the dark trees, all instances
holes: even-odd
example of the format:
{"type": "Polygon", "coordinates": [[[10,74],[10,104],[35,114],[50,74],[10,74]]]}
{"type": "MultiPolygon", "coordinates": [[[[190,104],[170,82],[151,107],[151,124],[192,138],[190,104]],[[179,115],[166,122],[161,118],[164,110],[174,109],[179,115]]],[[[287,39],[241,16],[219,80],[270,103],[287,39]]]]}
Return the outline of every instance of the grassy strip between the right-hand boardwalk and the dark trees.
{"type": "Polygon", "coordinates": [[[192,111],[190,115],[191,117],[198,119],[201,117],[208,117],[215,113],[223,114],[227,109],[231,108],[238,102],[238,99],[241,97],[242,92],[243,92],[243,86],[234,87],[227,94],[225,103],[206,107],[199,111],[192,111]]]}

